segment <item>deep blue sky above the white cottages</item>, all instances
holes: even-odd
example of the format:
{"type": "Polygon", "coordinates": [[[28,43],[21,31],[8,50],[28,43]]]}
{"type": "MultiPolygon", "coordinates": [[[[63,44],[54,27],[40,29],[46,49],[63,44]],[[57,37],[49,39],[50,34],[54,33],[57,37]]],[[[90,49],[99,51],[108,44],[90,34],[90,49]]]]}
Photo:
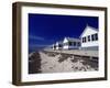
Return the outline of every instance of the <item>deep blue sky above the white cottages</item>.
{"type": "Polygon", "coordinates": [[[79,37],[87,24],[98,29],[98,16],[29,13],[29,50],[48,46],[65,36],[79,37]]]}

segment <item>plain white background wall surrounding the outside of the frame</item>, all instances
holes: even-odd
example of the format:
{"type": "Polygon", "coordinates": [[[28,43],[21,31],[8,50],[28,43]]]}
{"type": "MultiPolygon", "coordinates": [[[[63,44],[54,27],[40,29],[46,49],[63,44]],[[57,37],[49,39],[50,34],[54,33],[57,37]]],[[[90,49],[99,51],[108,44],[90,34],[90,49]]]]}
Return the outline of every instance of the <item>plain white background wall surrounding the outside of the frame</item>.
{"type": "MultiPolygon", "coordinates": [[[[16,87],[11,84],[12,75],[12,2],[13,1],[37,1],[45,3],[62,4],[86,4],[86,6],[110,6],[110,0],[0,0],[0,88],[110,88],[110,59],[108,59],[107,81],[70,82],[42,86],[16,87]]],[[[110,7],[108,15],[110,15],[110,7]]],[[[110,18],[108,18],[110,24],[110,18]]],[[[108,25],[110,29],[110,25],[108,25]]],[[[108,30],[110,37],[110,30],[108,30]]],[[[110,52],[110,40],[108,41],[108,51],[110,52]]],[[[110,54],[109,57],[110,58],[110,54]]]]}

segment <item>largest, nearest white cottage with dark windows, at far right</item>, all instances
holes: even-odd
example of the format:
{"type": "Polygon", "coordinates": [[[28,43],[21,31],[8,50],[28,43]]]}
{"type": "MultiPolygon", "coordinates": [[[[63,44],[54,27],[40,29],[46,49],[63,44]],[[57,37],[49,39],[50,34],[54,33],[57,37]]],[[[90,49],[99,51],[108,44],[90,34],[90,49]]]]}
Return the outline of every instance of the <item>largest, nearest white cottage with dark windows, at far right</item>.
{"type": "Polygon", "coordinates": [[[98,29],[86,26],[80,35],[81,50],[98,51],[98,29]]]}

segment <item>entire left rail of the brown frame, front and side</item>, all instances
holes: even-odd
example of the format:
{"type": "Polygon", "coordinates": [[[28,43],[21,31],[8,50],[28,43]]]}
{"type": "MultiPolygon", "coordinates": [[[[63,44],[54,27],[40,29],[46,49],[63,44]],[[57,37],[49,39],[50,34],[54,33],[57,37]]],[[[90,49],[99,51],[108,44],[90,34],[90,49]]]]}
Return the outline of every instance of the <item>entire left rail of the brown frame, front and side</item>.
{"type": "Polygon", "coordinates": [[[21,7],[12,6],[12,84],[21,82],[21,7]]]}

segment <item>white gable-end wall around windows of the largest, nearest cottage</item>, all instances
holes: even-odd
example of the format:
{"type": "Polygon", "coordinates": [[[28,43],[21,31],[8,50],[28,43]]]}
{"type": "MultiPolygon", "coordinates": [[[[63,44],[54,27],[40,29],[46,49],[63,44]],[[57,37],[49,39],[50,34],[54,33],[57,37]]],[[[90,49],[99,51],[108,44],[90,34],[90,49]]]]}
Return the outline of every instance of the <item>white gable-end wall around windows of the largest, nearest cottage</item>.
{"type": "Polygon", "coordinates": [[[85,32],[81,35],[81,38],[86,36],[86,42],[82,43],[81,41],[81,47],[98,46],[98,41],[91,41],[91,35],[96,33],[98,32],[92,30],[91,28],[86,28],[85,32]],[[90,35],[90,42],[88,42],[88,35],[90,35]]]}

